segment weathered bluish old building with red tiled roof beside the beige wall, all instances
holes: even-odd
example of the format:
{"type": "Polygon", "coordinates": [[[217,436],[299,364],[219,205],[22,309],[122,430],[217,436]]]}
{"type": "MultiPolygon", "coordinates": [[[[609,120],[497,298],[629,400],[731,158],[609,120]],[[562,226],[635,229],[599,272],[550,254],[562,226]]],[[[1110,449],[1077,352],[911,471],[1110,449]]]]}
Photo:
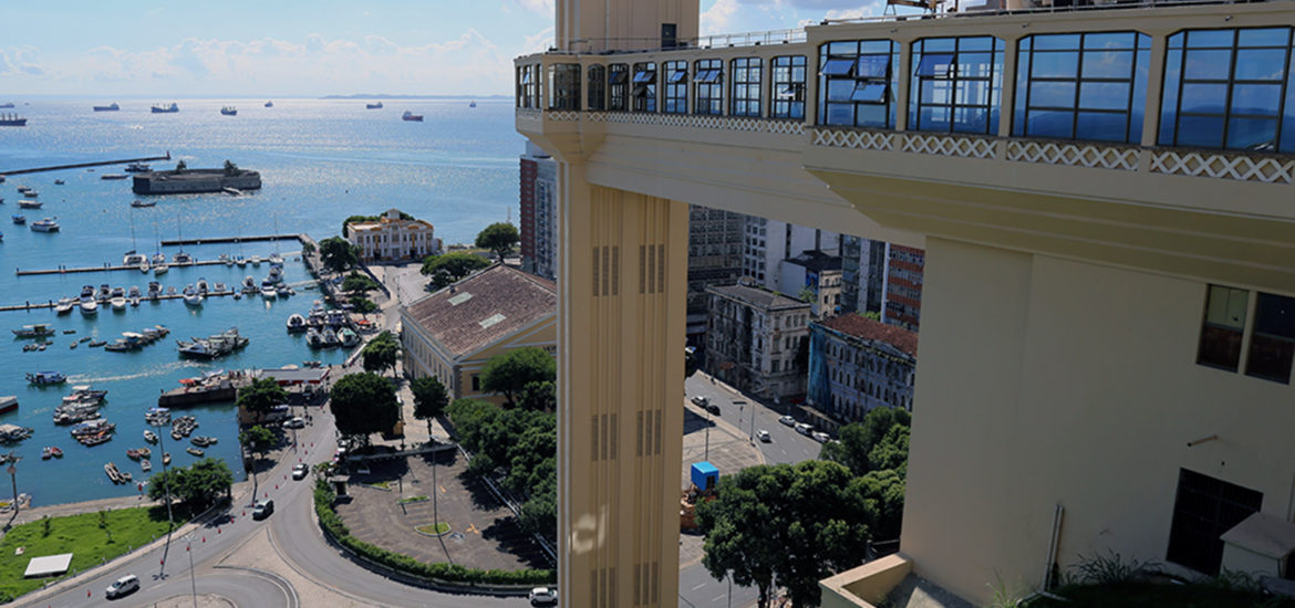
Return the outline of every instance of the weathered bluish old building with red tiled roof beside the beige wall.
{"type": "MultiPolygon", "coordinates": [[[[853,313],[809,323],[807,404],[829,429],[875,407],[913,410],[917,334],[853,313]]],[[[820,426],[820,424],[816,424],[820,426]]]]}

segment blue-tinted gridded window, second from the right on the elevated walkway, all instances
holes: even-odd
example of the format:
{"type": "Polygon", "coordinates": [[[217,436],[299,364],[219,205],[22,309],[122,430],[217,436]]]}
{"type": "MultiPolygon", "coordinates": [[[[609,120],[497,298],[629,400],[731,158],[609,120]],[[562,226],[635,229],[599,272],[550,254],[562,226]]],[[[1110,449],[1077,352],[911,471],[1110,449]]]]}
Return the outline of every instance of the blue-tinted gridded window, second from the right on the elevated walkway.
{"type": "Polygon", "coordinates": [[[1150,47],[1150,36],[1138,32],[1022,39],[1011,133],[1140,141],[1150,47]]]}

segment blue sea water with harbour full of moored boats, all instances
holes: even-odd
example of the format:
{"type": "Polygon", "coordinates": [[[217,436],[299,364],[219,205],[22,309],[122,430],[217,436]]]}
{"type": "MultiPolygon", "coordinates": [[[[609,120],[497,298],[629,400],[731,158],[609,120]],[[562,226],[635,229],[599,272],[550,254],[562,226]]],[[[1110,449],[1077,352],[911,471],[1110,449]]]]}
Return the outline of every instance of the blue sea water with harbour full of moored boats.
{"type": "MultiPolygon", "coordinates": [[[[426,219],[438,238],[447,243],[470,242],[478,230],[504,221],[517,204],[517,155],[523,142],[513,129],[513,109],[508,102],[467,101],[387,101],[382,110],[365,110],[363,101],[273,100],[238,105],[237,116],[223,116],[228,102],[188,100],[179,114],[150,114],[149,102],[123,102],[117,113],[93,113],[102,101],[34,101],[16,110],[28,118],[25,128],[0,128],[0,172],[91,160],[162,155],[171,151],[171,168],[177,159],[189,167],[220,167],[225,159],[240,167],[260,171],[262,189],[246,197],[225,194],[150,197],[152,208],[133,208],[131,180],[105,181],[102,173],[120,173],[122,167],[95,171],[67,169],[10,176],[0,184],[0,269],[45,269],[119,264],[122,254],[136,248],[157,250],[170,257],[179,247],[159,247],[161,239],[238,237],[265,233],[308,233],[316,239],[338,234],[350,215],[377,215],[398,207],[426,219]],[[423,123],[400,120],[400,113],[423,114],[423,123]],[[65,185],[54,185],[65,180],[65,185]],[[17,186],[35,188],[41,210],[19,210],[17,186]],[[35,233],[13,225],[8,216],[22,212],[27,221],[57,217],[58,233],[35,233]],[[133,237],[132,237],[133,234],[133,237]]],[[[124,450],[145,445],[144,411],[157,405],[157,395],[177,387],[183,378],[216,369],[277,367],[307,360],[341,362],[348,354],[341,349],[312,351],[302,336],[285,331],[291,313],[306,312],[319,291],[303,287],[310,282],[304,266],[291,255],[295,241],[245,244],[205,244],[184,247],[199,260],[220,254],[267,256],[285,255],[285,276],[298,286],[287,300],[263,301],[245,298],[206,300],[201,309],[181,300],[144,301],[139,308],[114,313],[102,308],[96,317],[78,312],[57,317],[53,310],[0,312],[0,331],[36,322],[52,322],[60,331],[44,352],[23,352],[31,340],[0,336],[0,395],[16,395],[16,413],[0,414],[0,424],[32,427],[31,439],[17,445],[0,445],[23,457],[17,466],[18,492],[32,495],[35,505],[130,495],[136,486],[114,486],[102,467],[115,462],[123,471],[140,477],[139,466],[124,450]],[[113,339],[122,331],[137,331],[164,325],[171,335],[144,351],[117,353],[69,343],[82,336],[113,339]],[[251,345],[212,362],[180,358],[175,340],[206,336],[238,327],[251,345]],[[63,330],[75,334],[63,335],[63,330]],[[70,382],[60,387],[28,385],[25,373],[57,370],[70,382]],[[117,423],[113,441],[84,448],[56,427],[51,415],[73,384],[92,383],[107,389],[107,405],[100,411],[117,423]],[[45,445],[63,449],[61,461],[41,461],[45,445]]],[[[260,268],[196,266],[172,268],[158,277],[163,286],[185,285],[206,278],[210,283],[237,285],[245,276],[258,282],[268,265],[260,268]]],[[[47,301],[75,296],[80,286],[109,283],[146,290],[152,274],[139,272],[96,272],[18,277],[0,272],[0,305],[47,301]]],[[[214,435],[220,442],[207,455],[225,458],[242,479],[238,461],[237,426],[233,406],[220,405],[185,411],[197,417],[197,433],[214,435]]],[[[184,446],[166,439],[174,463],[185,464],[193,457],[184,446]]],[[[161,470],[161,450],[154,449],[154,471],[161,470]]]]}

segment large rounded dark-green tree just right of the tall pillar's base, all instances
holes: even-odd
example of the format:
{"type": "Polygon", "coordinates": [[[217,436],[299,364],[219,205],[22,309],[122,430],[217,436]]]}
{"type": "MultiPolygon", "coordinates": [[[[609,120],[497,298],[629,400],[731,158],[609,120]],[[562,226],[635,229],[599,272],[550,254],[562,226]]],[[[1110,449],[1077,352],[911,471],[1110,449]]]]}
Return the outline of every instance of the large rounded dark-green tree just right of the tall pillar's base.
{"type": "Polygon", "coordinates": [[[874,519],[862,483],[834,462],[745,468],[698,505],[702,564],[716,580],[755,585],[761,608],[774,583],[787,589],[793,605],[817,605],[818,581],[857,565],[874,519]]]}

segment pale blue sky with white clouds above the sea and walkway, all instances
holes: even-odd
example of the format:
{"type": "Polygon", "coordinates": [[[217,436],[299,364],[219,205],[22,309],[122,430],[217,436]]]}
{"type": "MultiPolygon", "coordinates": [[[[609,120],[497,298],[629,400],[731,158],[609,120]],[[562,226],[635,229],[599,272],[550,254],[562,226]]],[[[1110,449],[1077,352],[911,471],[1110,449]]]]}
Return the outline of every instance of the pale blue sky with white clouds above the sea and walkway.
{"type": "MultiPolygon", "coordinates": [[[[510,94],[554,0],[5,0],[0,97],[510,94]]],[[[794,28],[881,0],[701,0],[701,30],[794,28]]]]}

